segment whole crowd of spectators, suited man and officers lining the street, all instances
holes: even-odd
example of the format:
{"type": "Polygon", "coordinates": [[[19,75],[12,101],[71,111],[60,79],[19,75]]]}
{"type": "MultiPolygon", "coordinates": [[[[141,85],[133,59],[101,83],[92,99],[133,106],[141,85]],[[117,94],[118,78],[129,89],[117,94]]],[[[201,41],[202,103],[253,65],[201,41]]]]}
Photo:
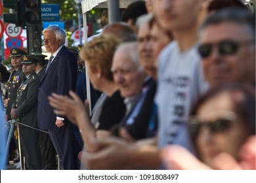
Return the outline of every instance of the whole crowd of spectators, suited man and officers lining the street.
{"type": "Polygon", "coordinates": [[[56,169],[57,154],[59,169],[256,169],[251,8],[146,0],[122,18],[79,52],[63,29],[45,28],[47,65],[11,50],[3,102],[22,168],[56,169]]]}

